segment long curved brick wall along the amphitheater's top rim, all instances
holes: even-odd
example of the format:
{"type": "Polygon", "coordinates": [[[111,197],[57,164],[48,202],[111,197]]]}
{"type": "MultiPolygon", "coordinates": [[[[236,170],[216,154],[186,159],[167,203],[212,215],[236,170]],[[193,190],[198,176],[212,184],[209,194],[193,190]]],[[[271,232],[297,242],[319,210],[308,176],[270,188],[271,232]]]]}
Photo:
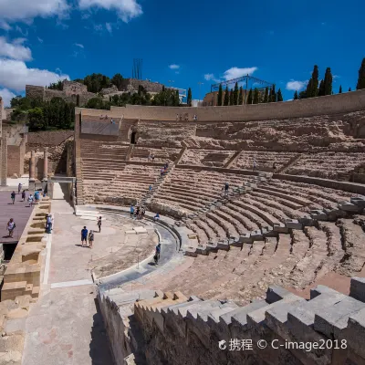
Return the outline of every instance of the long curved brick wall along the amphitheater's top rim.
{"type": "Polygon", "coordinates": [[[188,113],[189,120],[193,120],[193,115],[196,114],[199,121],[282,120],[358,110],[365,110],[365,89],[312,99],[233,107],[111,107],[113,114],[123,115],[125,119],[176,120],[176,114],[188,113]]]}

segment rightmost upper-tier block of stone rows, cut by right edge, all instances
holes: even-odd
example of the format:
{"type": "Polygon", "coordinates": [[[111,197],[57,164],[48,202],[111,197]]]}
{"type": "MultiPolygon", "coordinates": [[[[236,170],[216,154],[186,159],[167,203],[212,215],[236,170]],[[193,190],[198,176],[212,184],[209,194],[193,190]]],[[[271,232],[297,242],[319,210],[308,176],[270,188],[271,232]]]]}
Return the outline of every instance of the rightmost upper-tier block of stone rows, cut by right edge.
{"type": "Polygon", "coordinates": [[[293,175],[341,179],[365,162],[365,153],[321,152],[306,154],[287,170],[293,175]]]}

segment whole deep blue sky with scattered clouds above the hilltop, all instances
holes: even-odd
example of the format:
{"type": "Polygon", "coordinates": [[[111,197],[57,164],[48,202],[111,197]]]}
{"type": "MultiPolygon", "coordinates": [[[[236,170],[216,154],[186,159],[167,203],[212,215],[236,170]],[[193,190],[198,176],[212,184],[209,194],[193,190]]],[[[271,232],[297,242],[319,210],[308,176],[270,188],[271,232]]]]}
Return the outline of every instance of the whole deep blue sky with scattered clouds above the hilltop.
{"type": "Polygon", "coordinates": [[[364,13],[360,0],[0,0],[0,96],[93,72],[127,78],[134,57],[142,78],[193,99],[247,72],[292,99],[314,64],[321,78],[331,68],[335,92],[355,89],[364,13]]]}

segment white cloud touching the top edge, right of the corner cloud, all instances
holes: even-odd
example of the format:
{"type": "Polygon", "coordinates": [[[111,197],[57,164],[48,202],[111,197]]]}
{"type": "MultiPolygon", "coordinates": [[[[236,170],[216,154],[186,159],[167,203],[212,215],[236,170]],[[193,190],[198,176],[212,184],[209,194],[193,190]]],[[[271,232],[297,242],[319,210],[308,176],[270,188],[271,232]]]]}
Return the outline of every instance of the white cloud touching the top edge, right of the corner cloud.
{"type": "Polygon", "coordinates": [[[141,5],[136,0],[79,0],[78,5],[81,10],[90,7],[116,10],[120,19],[125,23],[143,14],[141,5]]]}

